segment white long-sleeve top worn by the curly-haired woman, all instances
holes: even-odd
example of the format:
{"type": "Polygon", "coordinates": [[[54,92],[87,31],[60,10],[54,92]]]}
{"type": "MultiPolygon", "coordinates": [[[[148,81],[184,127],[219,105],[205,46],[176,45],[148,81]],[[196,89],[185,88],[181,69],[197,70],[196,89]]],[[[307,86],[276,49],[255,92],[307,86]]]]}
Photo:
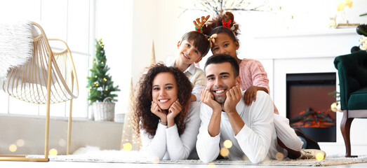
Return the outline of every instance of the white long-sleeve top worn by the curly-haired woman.
{"type": "Polygon", "coordinates": [[[196,144],[196,136],[199,133],[199,102],[190,104],[187,120],[185,120],[185,131],[178,134],[177,125],[167,127],[158,124],[154,137],[145,130],[140,130],[142,148],[140,152],[147,158],[157,157],[159,160],[183,160],[189,157],[196,144]]]}

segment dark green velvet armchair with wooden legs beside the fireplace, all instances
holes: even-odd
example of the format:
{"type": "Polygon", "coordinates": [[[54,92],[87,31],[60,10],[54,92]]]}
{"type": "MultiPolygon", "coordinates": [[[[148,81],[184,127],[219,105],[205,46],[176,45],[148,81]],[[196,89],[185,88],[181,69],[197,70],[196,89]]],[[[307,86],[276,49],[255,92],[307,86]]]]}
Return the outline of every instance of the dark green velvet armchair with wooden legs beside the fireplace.
{"type": "Polygon", "coordinates": [[[360,50],[334,60],[340,83],[343,111],[340,130],[345,142],[345,157],[351,157],[350,126],[354,118],[367,118],[367,52],[360,50]]]}

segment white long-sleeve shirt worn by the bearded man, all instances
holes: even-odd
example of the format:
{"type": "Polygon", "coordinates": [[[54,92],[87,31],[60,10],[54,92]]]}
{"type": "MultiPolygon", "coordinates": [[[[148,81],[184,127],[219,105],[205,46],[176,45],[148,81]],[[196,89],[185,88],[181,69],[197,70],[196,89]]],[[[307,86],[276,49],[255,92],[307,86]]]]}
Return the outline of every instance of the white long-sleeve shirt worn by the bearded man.
{"type": "Polygon", "coordinates": [[[229,148],[230,160],[241,160],[246,157],[253,163],[262,162],[269,154],[269,158],[275,158],[276,153],[283,150],[276,141],[276,132],[273,124],[274,106],[269,94],[258,91],[256,102],[246,106],[242,98],[236,105],[236,111],[245,125],[237,135],[234,135],[227,113],[222,111],[220,118],[220,133],[211,137],[208,133],[208,125],[211,120],[213,109],[201,103],[200,118],[201,126],[196,141],[196,151],[203,162],[211,162],[218,157],[220,148],[223,148],[225,140],[232,141],[229,148]]]}

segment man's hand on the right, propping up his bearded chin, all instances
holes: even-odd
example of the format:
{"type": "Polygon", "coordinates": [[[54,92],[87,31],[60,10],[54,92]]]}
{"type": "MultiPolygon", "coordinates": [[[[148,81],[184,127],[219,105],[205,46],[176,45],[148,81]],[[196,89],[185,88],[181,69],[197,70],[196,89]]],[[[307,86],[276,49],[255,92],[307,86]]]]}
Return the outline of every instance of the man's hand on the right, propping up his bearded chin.
{"type": "Polygon", "coordinates": [[[226,113],[236,112],[236,105],[242,98],[241,87],[239,85],[235,85],[227,91],[226,97],[223,110],[226,113]]]}

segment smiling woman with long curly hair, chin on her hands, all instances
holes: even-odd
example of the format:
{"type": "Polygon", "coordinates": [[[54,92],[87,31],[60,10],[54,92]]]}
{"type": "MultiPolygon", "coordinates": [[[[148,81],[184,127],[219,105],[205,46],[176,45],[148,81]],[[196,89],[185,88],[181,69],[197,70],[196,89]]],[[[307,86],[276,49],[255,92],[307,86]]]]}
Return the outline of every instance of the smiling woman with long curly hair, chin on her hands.
{"type": "Polygon", "coordinates": [[[142,78],[133,121],[140,151],[159,160],[189,158],[199,134],[199,102],[190,104],[192,84],[180,69],[156,64],[142,78]]]}

